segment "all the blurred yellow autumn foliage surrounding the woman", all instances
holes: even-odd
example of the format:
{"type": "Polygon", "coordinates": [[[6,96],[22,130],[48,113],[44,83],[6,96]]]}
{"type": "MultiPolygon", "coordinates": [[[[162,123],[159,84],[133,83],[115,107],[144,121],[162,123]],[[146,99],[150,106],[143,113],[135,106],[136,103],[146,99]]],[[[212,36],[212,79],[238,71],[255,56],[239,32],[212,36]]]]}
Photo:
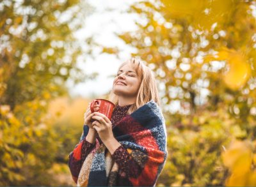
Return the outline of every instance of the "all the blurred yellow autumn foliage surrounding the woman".
{"type": "MultiPolygon", "coordinates": [[[[64,85],[92,78],[74,37],[90,12],[78,0],[1,1],[0,186],[75,185],[68,154],[92,98],[64,85]]],[[[156,73],[168,131],[157,186],[256,186],[256,1],[138,1],[129,13],[138,30],[118,37],[156,73]]]]}

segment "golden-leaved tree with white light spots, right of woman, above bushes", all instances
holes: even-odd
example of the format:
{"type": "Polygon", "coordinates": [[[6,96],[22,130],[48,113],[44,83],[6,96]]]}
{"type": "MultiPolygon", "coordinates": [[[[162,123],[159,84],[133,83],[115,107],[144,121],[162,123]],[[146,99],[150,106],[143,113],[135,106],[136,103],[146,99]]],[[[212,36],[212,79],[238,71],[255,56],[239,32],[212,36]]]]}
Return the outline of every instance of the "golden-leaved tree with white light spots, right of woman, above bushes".
{"type": "MultiPolygon", "coordinates": [[[[205,103],[214,109],[227,98],[230,107],[241,103],[237,98],[244,103],[250,100],[253,107],[253,8],[253,1],[141,1],[131,7],[141,17],[138,31],[120,38],[138,49],[134,55],[156,71],[163,103],[179,103],[180,113],[193,114],[205,103]],[[214,61],[212,56],[218,55],[221,60],[214,61]],[[244,98],[244,90],[250,96],[244,98]]],[[[246,117],[241,112],[237,115],[246,117]]]]}

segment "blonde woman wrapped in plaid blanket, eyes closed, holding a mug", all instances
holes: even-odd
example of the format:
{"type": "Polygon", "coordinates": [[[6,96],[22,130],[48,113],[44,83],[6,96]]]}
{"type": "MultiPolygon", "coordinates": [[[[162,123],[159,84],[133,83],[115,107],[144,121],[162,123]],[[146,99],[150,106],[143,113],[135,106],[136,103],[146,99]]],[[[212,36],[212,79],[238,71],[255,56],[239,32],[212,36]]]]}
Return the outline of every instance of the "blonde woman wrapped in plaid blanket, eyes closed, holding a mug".
{"type": "Polygon", "coordinates": [[[84,114],[83,135],[68,161],[72,177],[77,186],[154,186],[167,151],[152,71],[133,58],[121,64],[111,96],[111,120],[90,108],[84,114]]]}

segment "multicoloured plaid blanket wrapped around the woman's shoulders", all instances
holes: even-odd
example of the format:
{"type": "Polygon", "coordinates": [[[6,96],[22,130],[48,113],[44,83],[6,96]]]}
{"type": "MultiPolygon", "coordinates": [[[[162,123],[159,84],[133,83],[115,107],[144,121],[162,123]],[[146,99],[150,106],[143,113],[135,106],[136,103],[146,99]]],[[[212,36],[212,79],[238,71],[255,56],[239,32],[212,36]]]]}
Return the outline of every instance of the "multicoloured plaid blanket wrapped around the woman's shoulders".
{"type": "Polygon", "coordinates": [[[154,186],[167,156],[164,118],[156,103],[149,101],[124,117],[113,134],[129,153],[125,170],[118,168],[108,149],[97,141],[84,160],[77,186],[154,186]]]}

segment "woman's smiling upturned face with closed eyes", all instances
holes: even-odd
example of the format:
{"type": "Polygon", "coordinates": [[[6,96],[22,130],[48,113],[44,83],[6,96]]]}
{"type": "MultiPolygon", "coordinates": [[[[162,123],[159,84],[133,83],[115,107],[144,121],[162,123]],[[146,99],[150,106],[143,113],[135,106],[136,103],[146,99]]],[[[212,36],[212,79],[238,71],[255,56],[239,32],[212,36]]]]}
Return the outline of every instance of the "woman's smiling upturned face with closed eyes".
{"type": "Polygon", "coordinates": [[[113,82],[113,93],[117,96],[136,97],[140,88],[140,78],[131,64],[122,66],[113,82]]]}

